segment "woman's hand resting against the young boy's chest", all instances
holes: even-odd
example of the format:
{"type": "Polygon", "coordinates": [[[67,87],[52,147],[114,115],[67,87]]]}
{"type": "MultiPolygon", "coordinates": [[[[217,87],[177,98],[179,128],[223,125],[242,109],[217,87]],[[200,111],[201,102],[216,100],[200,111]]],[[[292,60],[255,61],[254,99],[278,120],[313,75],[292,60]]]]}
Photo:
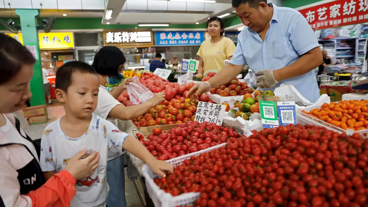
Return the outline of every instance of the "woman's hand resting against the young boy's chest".
{"type": "Polygon", "coordinates": [[[76,180],[87,178],[91,175],[99,165],[100,153],[93,151],[85,159],[81,159],[85,155],[87,149],[84,149],[75,154],[67,163],[65,170],[68,171],[76,180]]]}

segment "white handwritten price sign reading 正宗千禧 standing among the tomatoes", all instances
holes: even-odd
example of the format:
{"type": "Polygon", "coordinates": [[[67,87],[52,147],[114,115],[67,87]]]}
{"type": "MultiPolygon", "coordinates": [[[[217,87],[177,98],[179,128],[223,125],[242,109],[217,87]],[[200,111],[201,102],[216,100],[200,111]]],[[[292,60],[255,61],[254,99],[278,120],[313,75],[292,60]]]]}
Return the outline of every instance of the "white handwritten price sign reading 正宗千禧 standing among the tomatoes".
{"type": "Polygon", "coordinates": [[[195,120],[199,123],[210,122],[221,125],[224,119],[226,106],[216,103],[199,102],[197,112],[195,112],[195,120]]]}

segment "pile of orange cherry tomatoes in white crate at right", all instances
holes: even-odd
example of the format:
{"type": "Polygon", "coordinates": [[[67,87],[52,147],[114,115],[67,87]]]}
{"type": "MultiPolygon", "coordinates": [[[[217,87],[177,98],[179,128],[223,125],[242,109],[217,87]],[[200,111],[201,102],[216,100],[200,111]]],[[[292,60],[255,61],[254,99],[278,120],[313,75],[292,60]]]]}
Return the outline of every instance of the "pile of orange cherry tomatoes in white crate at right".
{"type": "Polygon", "coordinates": [[[338,103],[323,103],[320,109],[313,109],[309,112],[302,111],[302,113],[314,116],[343,130],[353,129],[357,131],[368,129],[367,105],[367,100],[339,101],[338,103]]]}

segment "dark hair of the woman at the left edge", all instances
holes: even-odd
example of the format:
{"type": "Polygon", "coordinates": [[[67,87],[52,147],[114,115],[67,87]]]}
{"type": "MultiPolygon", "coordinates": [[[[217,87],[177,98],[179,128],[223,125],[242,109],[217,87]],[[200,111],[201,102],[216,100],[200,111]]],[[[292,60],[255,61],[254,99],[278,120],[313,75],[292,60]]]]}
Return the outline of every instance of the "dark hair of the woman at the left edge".
{"type": "Polygon", "coordinates": [[[24,65],[35,62],[25,46],[10,36],[0,34],[0,84],[14,78],[24,65]]]}

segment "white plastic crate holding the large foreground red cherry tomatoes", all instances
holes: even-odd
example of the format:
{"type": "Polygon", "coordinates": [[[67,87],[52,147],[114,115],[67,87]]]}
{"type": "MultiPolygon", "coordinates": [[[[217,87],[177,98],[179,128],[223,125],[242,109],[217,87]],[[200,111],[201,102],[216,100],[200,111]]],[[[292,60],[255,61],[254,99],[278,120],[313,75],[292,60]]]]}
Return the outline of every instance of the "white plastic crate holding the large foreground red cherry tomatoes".
{"type": "MultiPolygon", "coordinates": [[[[193,153],[183,155],[183,156],[180,156],[174,159],[170,159],[167,162],[169,162],[170,164],[174,165],[174,167],[176,167],[178,165],[183,164],[183,161],[185,159],[190,159],[191,156],[198,156],[202,153],[220,148],[225,145],[226,143],[219,144],[219,145],[207,148],[205,150],[193,152],[193,153]]],[[[194,193],[194,192],[183,193],[175,197],[172,196],[170,193],[165,193],[153,181],[154,178],[158,178],[159,176],[153,173],[147,164],[144,164],[142,166],[142,175],[144,176],[146,180],[147,191],[148,191],[149,197],[151,197],[153,201],[153,204],[155,204],[155,207],[175,207],[175,206],[183,206],[183,205],[192,206],[192,203],[201,196],[201,193],[194,193]]]]}

